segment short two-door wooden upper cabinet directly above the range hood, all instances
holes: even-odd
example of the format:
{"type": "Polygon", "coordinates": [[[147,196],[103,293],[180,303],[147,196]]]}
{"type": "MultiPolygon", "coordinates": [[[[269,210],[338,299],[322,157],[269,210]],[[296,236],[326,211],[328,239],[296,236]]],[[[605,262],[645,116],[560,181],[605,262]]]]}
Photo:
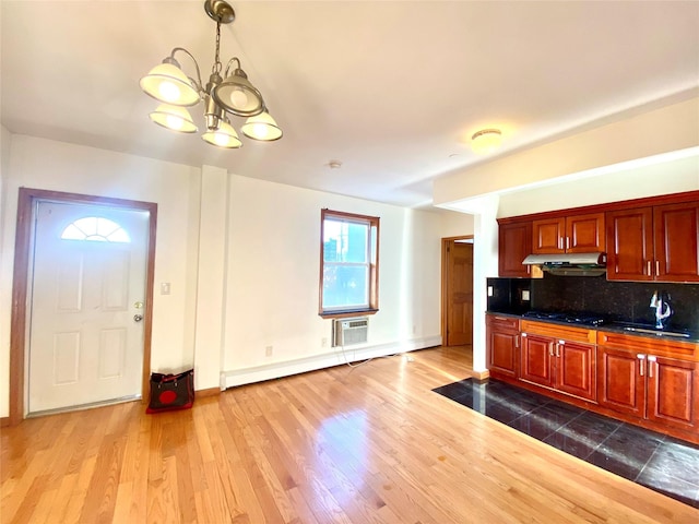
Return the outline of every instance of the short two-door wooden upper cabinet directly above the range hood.
{"type": "Polygon", "coordinates": [[[532,222],[532,253],[602,253],[604,213],[552,217],[532,222]]]}

